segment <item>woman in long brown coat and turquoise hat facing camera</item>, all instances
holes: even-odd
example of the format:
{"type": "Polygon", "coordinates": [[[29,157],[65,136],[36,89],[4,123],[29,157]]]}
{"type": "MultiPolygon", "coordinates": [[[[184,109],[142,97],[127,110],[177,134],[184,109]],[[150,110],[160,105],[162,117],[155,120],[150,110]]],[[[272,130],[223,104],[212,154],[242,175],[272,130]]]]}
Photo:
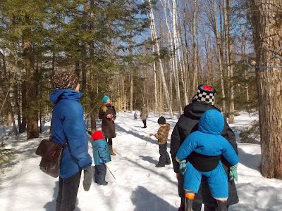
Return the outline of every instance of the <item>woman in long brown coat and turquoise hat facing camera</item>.
{"type": "Polygon", "coordinates": [[[116,120],[116,110],[111,106],[111,99],[109,96],[104,96],[102,106],[99,109],[99,119],[102,119],[102,132],[106,141],[109,143],[111,155],[116,155],[113,151],[113,138],[116,137],[116,127],[114,121],[116,120]]]}

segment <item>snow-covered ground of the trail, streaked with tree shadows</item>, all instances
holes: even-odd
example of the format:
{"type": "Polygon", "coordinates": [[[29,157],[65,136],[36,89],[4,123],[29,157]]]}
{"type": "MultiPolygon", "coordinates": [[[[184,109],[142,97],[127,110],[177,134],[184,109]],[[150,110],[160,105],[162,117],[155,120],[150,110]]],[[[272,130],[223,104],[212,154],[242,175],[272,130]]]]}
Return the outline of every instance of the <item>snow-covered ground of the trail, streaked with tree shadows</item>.
{"type": "MultiPolygon", "coordinates": [[[[143,129],[142,121],[134,120],[133,114],[118,114],[117,137],[114,139],[116,156],[112,156],[112,161],[108,163],[116,179],[107,171],[108,186],[97,186],[93,182],[90,191],[85,192],[81,185],[75,210],[178,209],[180,198],[173,167],[155,167],[159,159],[157,140],[146,137],[149,133],[157,132],[157,119],[158,117],[149,117],[148,127],[143,129]]],[[[231,124],[231,127],[235,129],[237,137],[240,129],[244,129],[255,119],[257,115],[249,116],[247,113],[235,117],[235,124],[231,124]]],[[[172,132],[177,119],[167,119],[167,122],[171,124],[172,132]]],[[[98,128],[100,123],[98,122],[98,128]]],[[[48,132],[43,136],[48,136],[48,132]]],[[[55,210],[58,179],[39,170],[40,158],[35,155],[42,137],[25,141],[25,135],[21,135],[15,141],[13,136],[8,136],[4,140],[7,147],[16,149],[17,154],[1,175],[0,210],[55,210]]],[[[282,181],[266,179],[259,173],[260,146],[255,143],[238,143],[238,150],[240,165],[236,184],[240,202],[229,210],[282,210],[282,181]]],[[[89,153],[92,155],[91,144],[89,153]]]]}

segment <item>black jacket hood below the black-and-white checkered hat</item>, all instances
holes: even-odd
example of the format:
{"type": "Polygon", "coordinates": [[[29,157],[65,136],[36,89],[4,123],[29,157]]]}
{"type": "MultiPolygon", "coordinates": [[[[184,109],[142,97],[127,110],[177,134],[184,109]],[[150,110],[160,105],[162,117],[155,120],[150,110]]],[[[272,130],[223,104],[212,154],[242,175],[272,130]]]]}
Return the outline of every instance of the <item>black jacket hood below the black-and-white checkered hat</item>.
{"type": "Polygon", "coordinates": [[[209,109],[215,109],[219,111],[218,108],[212,106],[210,103],[196,101],[184,107],[184,115],[192,120],[200,120],[202,114],[209,109]]]}

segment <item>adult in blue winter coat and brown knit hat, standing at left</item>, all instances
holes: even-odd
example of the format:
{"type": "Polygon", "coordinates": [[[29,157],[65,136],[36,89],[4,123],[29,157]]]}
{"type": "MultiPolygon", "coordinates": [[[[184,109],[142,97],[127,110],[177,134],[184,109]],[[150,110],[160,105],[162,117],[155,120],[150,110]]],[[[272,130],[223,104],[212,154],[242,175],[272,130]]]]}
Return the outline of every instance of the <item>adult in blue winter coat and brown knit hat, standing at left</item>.
{"type": "Polygon", "coordinates": [[[88,154],[83,108],[79,103],[82,94],[79,92],[78,77],[71,72],[57,73],[53,84],[56,89],[50,95],[50,101],[54,104],[52,140],[67,144],[61,158],[56,211],[75,210],[82,170],[85,191],[90,189],[92,182],[92,158],[88,154]]]}

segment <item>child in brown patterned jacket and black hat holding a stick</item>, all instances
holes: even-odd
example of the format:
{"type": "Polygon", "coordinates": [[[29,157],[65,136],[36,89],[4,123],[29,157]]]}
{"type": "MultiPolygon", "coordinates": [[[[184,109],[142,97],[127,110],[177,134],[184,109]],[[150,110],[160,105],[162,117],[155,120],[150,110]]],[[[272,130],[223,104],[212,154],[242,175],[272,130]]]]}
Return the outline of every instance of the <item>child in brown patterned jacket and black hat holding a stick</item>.
{"type": "Polygon", "coordinates": [[[159,144],[159,162],[156,167],[164,167],[165,165],[171,164],[171,158],[169,158],[168,152],[166,151],[168,132],[171,129],[171,125],[166,123],[164,117],[159,117],[159,130],[157,134],[154,134],[156,139],[158,139],[159,144]]]}

